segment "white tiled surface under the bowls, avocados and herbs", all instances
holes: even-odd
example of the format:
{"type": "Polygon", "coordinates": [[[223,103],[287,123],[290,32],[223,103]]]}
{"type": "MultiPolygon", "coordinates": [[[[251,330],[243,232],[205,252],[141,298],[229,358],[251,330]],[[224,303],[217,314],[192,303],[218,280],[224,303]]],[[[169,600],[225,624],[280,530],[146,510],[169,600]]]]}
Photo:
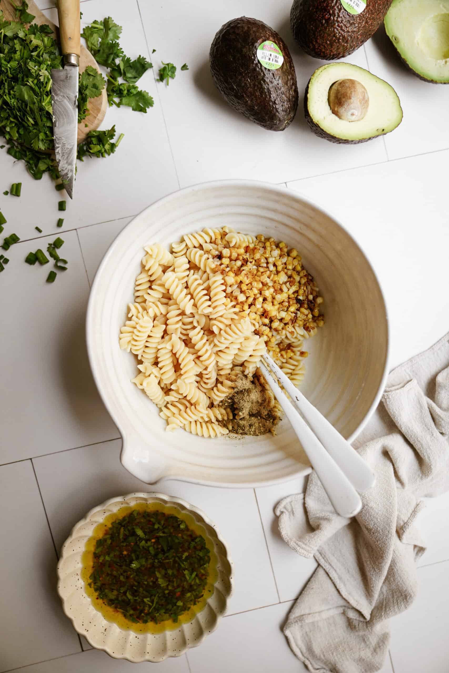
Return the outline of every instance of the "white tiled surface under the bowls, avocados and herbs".
{"type": "MultiPolygon", "coordinates": [[[[46,9],[54,3],[38,4],[46,9]]],[[[396,87],[405,112],[399,129],[385,139],[338,147],[310,134],[300,110],[284,133],[265,132],[230,110],[213,88],[207,54],[221,24],[244,13],[279,30],[291,47],[300,91],[320,63],[292,43],[290,0],[218,5],[129,0],[125,11],[118,0],[83,2],[83,22],[111,15],[123,25],[125,52],[148,57],[157,49],[155,68],[141,83],[155,104],[146,115],[108,110],[106,124],[116,123],[125,139],[107,160],[81,164],[77,199],[67,203],[62,229],[56,221],[63,194],[46,178],[34,182],[0,152],[0,193],[11,182],[23,183],[21,199],[0,197],[5,234],[15,231],[22,239],[0,277],[1,315],[7,316],[0,324],[0,673],[22,667],[29,673],[133,670],[79,640],[55,591],[57,552],[73,524],[107,497],[146,488],[120,465],[121,440],[96,392],[84,342],[90,284],[131,216],[179,186],[203,180],[287,181],[331,211],[370,256],[390,309],[392,365],[449,329],[449,87],[407,73],[380,30],[348,60],[396,87]],[[156,83],[162,60],[187,62],[190,70],[178,71],[167,88],[156,83]],[[48,267],[28,267],[23,258],[57,235],[65,240],[69,271],[47,285],[48,267]],[[39,240],[26,242],[31,238],[39,240]]],[[[230,613],[219,629],[187,656],[160,664],[161,670],[304,670],[280,627],[314,561],[282,542],[273,513],[279,499],[304,489],[304,480],[256,492],[174,481],[161,489],[207,511],[229,543],[236,569],[230,613]]],[[[420,593],[411,610],[391,623],[391,662],[382,673],[449,671],[448,514],[449,495],[429,501],[421,514],[429,549],[418,569],[420,593]]]]}

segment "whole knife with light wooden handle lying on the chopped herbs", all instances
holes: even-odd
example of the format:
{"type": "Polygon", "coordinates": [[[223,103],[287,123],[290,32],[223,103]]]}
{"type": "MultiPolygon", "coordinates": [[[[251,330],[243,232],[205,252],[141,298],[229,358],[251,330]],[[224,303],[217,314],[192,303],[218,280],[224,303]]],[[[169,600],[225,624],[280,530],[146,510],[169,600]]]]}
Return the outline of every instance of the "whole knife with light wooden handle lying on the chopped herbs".
{"type": "Polygon", "coordinates": [[[51,71],[53,136],[59,173],[73,199],[78,132],[79,0],[58,0],[63,69],[51,71]]]}

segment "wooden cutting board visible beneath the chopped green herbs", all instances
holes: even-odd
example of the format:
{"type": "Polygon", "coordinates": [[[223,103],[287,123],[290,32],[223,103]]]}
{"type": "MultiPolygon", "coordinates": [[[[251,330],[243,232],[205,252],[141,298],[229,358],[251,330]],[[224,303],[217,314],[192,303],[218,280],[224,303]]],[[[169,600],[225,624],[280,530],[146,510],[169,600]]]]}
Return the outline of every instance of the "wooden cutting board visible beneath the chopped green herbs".
{"type": "MultiPolygon", "coordinates": [[[[7,21],[17,21],[15,17],[15,9],[13,5],[6,3],[1,3],[1,9],[3,9],[3,15],[7,21]]],[[[59,28],[55,26],[46,15],[40,11],[36,3],[33,0],[28,0],[28,11],[30,14],[35,15],[34,24],[42,26],[42,24],[47,24],[55,33],[55,39],[59,42],[59,28]]],[[[88,65],[92,65],[96,70],[98,70],[98,65],[92,54],[81,44],[81,54],[79,57],[79,72],[82,73],[88,65]]],[[[98,98],[90,98],[88,102],[88,108],[90,114],[83,119],[81,124],[78,125],[78,143],[81,143],[89,131],[94,131],[98,129],[101,122],[104,119],[106,114],[106,109],[108,108],[108,97],[106,96],[106,88],[103,89],[101,96],[98,98]],[[85,127],[85,124],[88,126],[85,127]]]]}

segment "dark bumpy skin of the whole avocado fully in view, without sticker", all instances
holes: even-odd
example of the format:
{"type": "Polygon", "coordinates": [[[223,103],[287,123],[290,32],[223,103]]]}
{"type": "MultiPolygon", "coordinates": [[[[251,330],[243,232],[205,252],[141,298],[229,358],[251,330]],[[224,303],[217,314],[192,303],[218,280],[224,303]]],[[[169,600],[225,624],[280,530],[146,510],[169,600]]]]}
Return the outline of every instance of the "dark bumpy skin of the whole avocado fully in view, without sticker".
{"type": "Polygon", "coordinates": [[[298,110],[298,84],[287,45],[269,26],[240,17],[221,26],[209,52],[213,81],[234,110],[269,131],[283,131],[298,110]],[[264,40],[279,46],[284,61],[269,70],[257,59],[264,40]]]}

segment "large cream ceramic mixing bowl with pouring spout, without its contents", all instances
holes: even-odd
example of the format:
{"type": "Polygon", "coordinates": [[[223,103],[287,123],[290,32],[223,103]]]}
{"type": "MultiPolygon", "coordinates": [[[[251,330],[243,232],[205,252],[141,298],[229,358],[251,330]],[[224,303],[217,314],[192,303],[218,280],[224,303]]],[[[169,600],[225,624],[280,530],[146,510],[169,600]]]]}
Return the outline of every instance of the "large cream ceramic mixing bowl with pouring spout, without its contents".
{"type": "Polygon", "coordinates": [[[333,217],[296,192],[263,182],[209,182],[180,190],[137,215],[110,246],[95,277],[87,317],[90,365],[123,437],[123,465],[146,483],[182,479],[258,487],[310,472],[288,421],[277,435],[206,439],[166,422],[131,384],[135,357],[120,351],[118,333],[143,246],[165,245],[204,227],[229,225],[296,248],[324,297],[326,323],[309,339],[301,390],[349,441],[380,400],[388,369],[388,318],[378,279],[355,240],[333,217]]]}

